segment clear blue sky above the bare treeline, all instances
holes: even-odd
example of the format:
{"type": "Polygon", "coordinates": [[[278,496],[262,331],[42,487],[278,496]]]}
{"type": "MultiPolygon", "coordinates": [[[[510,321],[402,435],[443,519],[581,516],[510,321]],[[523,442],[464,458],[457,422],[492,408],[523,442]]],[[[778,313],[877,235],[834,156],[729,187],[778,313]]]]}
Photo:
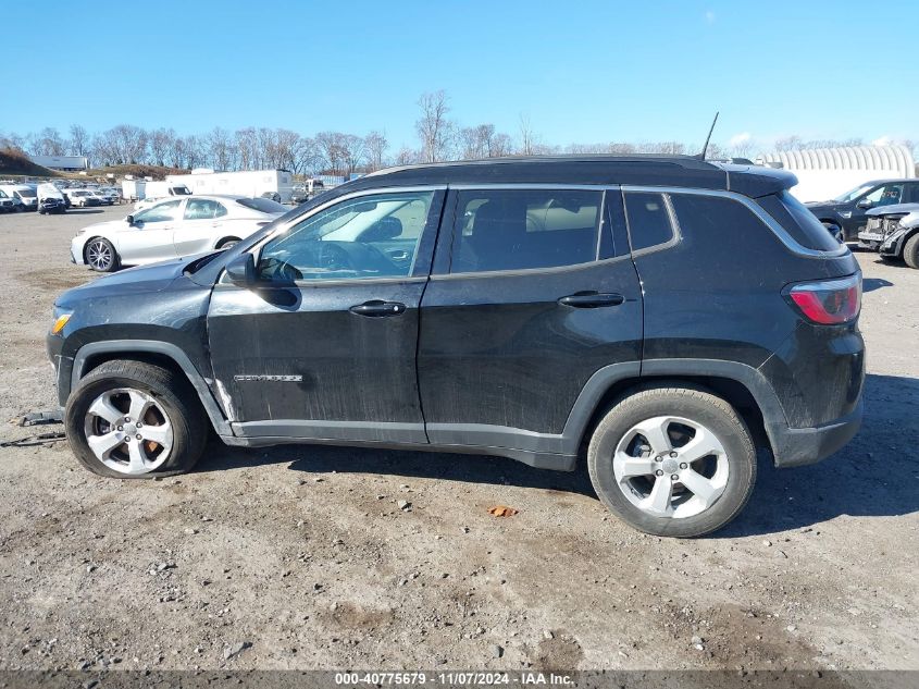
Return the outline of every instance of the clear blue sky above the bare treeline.
{"type": "Polygon", "coordinates": [[[445,89],[461,124],[516,135],[524,114],[547,144],[700,142],[715,110],[725,144],[919,138],[915,0],[45,7],[55,21],[7,13],[0,132],[385,130],[397,149],[415,145],[419,96],[445,89]]]}

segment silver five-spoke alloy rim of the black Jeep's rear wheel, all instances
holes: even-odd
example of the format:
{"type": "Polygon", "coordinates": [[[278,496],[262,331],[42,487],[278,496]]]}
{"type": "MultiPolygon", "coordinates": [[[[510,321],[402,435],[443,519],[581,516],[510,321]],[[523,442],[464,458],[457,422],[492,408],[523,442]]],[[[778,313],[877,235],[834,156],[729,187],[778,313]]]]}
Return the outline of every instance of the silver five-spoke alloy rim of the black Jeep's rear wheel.
{"type": "Polygon", "coordinates": [[[653,517],[698,515],[722,495],[730,471],[718,436],[697,421],[659,416],[633,426],[612,457],[616,482],[653,517]]]}

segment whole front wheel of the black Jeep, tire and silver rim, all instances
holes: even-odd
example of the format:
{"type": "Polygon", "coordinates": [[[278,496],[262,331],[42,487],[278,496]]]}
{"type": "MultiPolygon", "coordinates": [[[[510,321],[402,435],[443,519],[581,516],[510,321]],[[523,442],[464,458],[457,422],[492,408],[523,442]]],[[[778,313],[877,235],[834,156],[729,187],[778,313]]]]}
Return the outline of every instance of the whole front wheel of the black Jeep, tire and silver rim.
{"type": "Polygon", "coordinates": [[[71,394],[67,441],[90,471],[153,478],[188,471],[208,439],[208,421],[188,382],[139,361],[108,361],[71,394]]]}

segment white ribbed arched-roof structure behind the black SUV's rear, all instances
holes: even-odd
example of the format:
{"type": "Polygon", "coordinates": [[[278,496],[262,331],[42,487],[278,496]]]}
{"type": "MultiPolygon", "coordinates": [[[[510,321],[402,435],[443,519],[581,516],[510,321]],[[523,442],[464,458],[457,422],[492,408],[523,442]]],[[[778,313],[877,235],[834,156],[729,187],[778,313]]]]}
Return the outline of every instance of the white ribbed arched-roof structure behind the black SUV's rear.
{"type": "Polygon", "coordinates": [[[845,146],[766,153],[757,163],[795,173],[792,194],[802,201],[822,201],[872,180],[912,179],[916,162],[905,146],[845,146]]]}

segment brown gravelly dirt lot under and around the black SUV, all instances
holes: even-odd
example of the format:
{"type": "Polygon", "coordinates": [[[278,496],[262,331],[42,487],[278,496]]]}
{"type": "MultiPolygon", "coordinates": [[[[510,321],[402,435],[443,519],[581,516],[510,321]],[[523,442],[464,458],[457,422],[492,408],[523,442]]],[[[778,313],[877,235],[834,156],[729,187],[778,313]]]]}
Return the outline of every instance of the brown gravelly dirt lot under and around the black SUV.
{"type": "MultiPolygon", "coordinates": [[[[92,276],[71,237],[126,213],[0,217],[4,421],[54,405],[51,305],[92,276]]],[[[642,536],[585,472],[506,459],[212,445],[154,482],[2,448],[0,669],[919,669],[919,271],[858,258],[861,432],[763,466],[708,539],[642,536]]]]}

